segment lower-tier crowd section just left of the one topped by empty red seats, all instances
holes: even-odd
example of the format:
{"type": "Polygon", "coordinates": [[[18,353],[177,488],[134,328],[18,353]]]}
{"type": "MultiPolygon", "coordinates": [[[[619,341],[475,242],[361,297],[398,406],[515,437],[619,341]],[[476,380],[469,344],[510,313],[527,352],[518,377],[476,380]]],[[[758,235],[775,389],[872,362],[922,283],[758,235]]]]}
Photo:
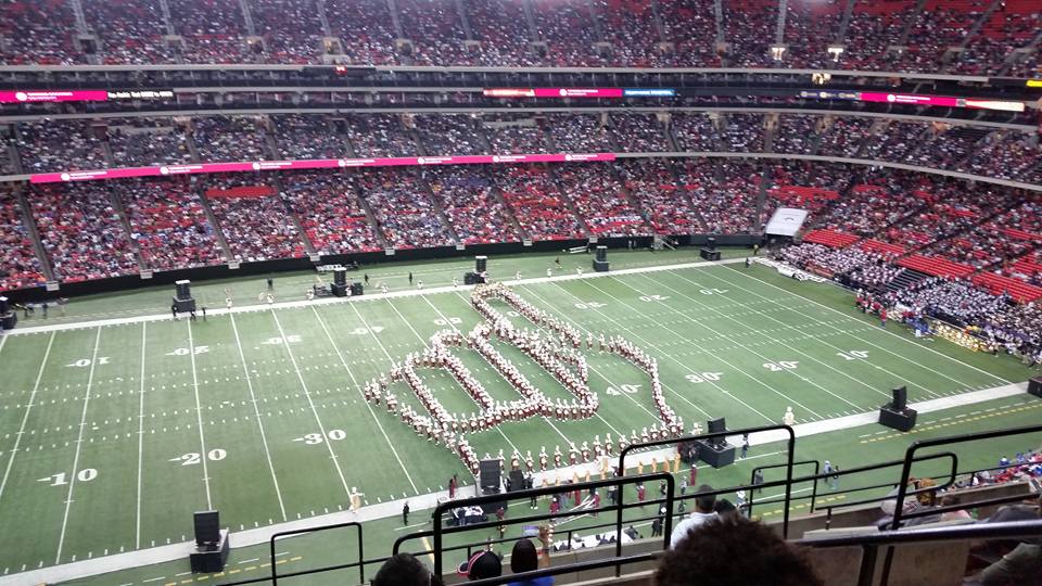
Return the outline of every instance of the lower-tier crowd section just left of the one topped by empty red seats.
{"type": "Polygon", "coordinates": [[[224,262],[199,193],[188,180],[120,180],[114,186],[130,222],[130,239],[147,267],[194,268],[224,262]]]}

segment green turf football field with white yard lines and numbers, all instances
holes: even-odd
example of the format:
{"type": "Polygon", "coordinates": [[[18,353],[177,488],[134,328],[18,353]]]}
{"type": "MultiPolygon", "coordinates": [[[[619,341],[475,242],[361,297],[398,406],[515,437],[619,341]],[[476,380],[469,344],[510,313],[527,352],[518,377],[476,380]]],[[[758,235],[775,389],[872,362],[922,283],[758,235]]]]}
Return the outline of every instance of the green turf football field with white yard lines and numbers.
{"type": "MultiPolygon", "coordinates": [[[[681,253],[621,256],[628,266],[691,260],[681,253]]],[[[569,273],[571,265],[586,258],[564,260],[561,272],[569,273]]],[[[549,262],[530,258],[517,266],[535,278],[549,262]]],[[[445,276],[463,265],[429,265],[431,272],[415,272],[433,286],[445,284],[445,276]]],[[[393,276],[394,289],[407,288],[405,269],[381,270],[372,272],[374,280],[393,276]]],[[[302,292],[313,277],[293,279],[292,286],[302,292]]],[[[290,281],[280,278],[277,289],[284,291],[290,281]]],[[[217,306],[228,286],[236,289],[237,304],[256,303],[255,282],[214,283],[196,288],[196,296],[208,295],[217,306]]],[[[584,334],[620,334],[655,356],[665,398],[685,422],[726,417],[732,429],[762,425],[778,422],[791,406],[798,422],[806,423],[872,411],[895,384],[907,384],[908,400],[920,402],[1031,375],[1009,358],[918,341],[892,323],[882,329],[855,313],[846,292],[798,283],[760,266],[522,282],[514,290],[584,334]]],[[[5,379],[0,391],[0,575],[190,539],[194,510],[219,509],[223,524],[240,532],[345,510],[352,488],[371,506],[442,491],[454,473],[466,476],[448,450],[368,406],[359,386],[385,372],[392,360],[421,349],[434,332],[467,332],[481,322],[467,290],[256,306],[194,322],[82,324],[162,313],[161,300],[168,294],[143,291],[122,303],[112,296],[74,302],[65,317],[48,321],[66,328],[0,341],[5,379]],[[114,301],[112,310],[102,310],[114,301]]],[[[280,293],[278,301],[301,296],[280,293]]],[[[42,323],[30,319],[24,326],[42,323]]],[[[569,396],[519,352],[499,349],[548,396],[569,396]]],[[[460,356],[494,397],[516,396],[475,353],[460,356]]],[[[507,423],[471,434],[478,453],[564,449],[570,441],[628,434],[658,420],[646,375],[614,357],[586,356],[590,387],[601,400],[595,418],[507,423]]],[[[476,409],[447,375],[425,380],[449,411],[476,409]]],[[[397,387],[399,396],[405,390],[397,387]]],[[[918,431],[937,436],[1038,421],[1035,407],[1042,402],[1029,399],[940,411],[922,418],[918,431]],[[945,421],[958,425],[951,429],[945,421]]],[[[908,436],[879,430],[873,425],[801,440],[800,457],[851,467],[902,454],[908,436]]],[[[967,461],[988,466],[997,450],[1031,442],[1037,447],[1040,438],[1017,442],[981,446],[967,461]]],[[[778,450],[758,448],[753,456],[773,462],[780,458],[778,450]]],[[[720,482],[737,483],[748,470],[746,462],[715,473],[720,482]]],[[[422,514],[416,517],[422,522],[422,514]]],[[[367,523],[367,555],[382,555],[379,550],[401,535],[399,525],[396,514],[367,523]]],[[[237,552],[237,559],[256,557],[250,551],[237,552]]],[[[288,552],[285,564],[329,561],[321,553],[310,556],[288,552]]],[[[167,565],[171,570],[148,568],[94,583],[163,584],[169,579],[145,581],[186,569],[167,565]]]]}

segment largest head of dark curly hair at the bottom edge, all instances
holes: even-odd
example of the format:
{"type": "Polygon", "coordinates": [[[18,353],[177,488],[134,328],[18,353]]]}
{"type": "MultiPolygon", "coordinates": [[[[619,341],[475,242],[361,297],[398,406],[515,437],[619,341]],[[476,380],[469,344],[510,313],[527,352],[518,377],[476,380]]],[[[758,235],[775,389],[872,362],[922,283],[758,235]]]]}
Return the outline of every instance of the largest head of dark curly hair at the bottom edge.
{"type": "Polygon", "coordinates": [[[708,521],[659,558],[657,586],[822,586],[804,553],[741,517],[708,521]]]}

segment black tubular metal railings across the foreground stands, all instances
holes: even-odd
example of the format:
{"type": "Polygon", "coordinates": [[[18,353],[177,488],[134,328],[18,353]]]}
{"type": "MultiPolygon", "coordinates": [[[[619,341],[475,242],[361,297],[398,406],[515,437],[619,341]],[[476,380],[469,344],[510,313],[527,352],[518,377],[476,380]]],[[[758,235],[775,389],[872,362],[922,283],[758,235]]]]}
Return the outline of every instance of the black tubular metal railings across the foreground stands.
{"type": "MultiPolygon", "coordinates": [[[[1021,435],[1021,434],[1028,434],[1028,433],[1042,432],[1042,424],[1031,425],[1026,428],[1015,428],[1009,430],[994,430],[994,431],[951,436],[951,437],[944,437],[944,438],[924,440],[924,441],[913,443],[905,451],[905,456],[903,459],[889,460],[889,461],[879,462],[875,464],[866,464],[862,467],[849,468],[846,470],[841,470],[838,473],[837,472],[821,473],[819,472],[821,469],[816,460],[795,461],[793,453],[795,453],[796,436],[791,428],[788,428],[786,425],[768,425],[768,426],[762,426],[762,428],[750,428],[750,429],[733,430],[733,431],[726,431],[726,432],[720,432],[720,433],[713,433],[713,434],[703,434],[698,436],[684,436],[684,437],[676,437],[676,438],[660,440],[660,441],[649,442],[647,444],[634,444],[634,445],[627,446],[626,448],[620,451],[619,460],[618,460],[619,462],[618,470],[621,471],[621,475],[618,475],[615,477],[584,482],[584,483],[575,483],[575,484],[544,486],[539,488],[518,491],[513,493],[484,495],[484,496],[478,496],[478,497],[472,497],[467,499],[440,502],[434,508],[432,513],[433,527],[431,530],[418,531],[418,532],[409,533],[398,537],[394,542],[394,545],[392,548],[392,555],[395,555],[402,551],[404,544],[408,542],[431,537],[433,539],[433,544],[430,547],[424,546],[423,549],[410,550],[410,551],[418,557],[427,556],[427,555],[431,556],[432,559],[434,560],[433,565],[434,565],[435,575],[442,575],[445,571],[445,563],[443,561],[443,558],[446,553],[466,550],[467,552],[466,558],[469,559],[473,550],[476,548],[485,548],[485,547],[490,547],[491,545],[506,544],[506,543],[511,543],[517,540],[516,537],[511,537],[511,538],[500,538],[500,539],[482,539],[481,542],[468,542],[463,544],[446,545],[445,538],[448,536],[465,534],[467,532],[473,532],[473,531],[499,528],[501,526],[505,527],[510,525],[524,525],[524,524],[531,525],[534,523],[547,522],[547,521],[552,522],[560,519],[575,518],[575,517],[585,515],[589,513],[598,514],[598,513],[613,512],[614,519],[610,522],[596,523],[593,525],[584,525],[582,527],[567,530],[568,537],[566,540],[568,544],[571,544],[573,533],[577,533],[579,531],[589,534],[590,532],[596,532],[597,530],[608,530],[605,533],[610,532],[614,535],[614,544],[613,544],[614,550],[612,556],[605,559],[569,563],[569,564],[563,564],[556,568],[548,568],[545,570],[526,572],[523,574],[513,574],[508,577],[478,581],[478,582],[473,582],[473,584],[478,586],[485,586],[485,585],[491,586],[494,584],[505,584],[507,582],[512,582],[518,579],[531,579],[535,577],[552,576],[558,574],[575,573],[575,572],[597,570],[597,569],[603,569],[603,568],[614,568],[615,575],[619,576],[622,574],[623,566],[631,565],[634,563],[650,561],[656,559],[659,555],[661,555],[661,551],[653,551],[653,552],[647,552],[647,553],[640,553],[640,555],[623,556],[622,535],[624,532],[624,525],[628,524],[630,526],[633,526],[634,523],[640,523],[649,520],[659,519],[662,522],[662,526],[663,526],[662,549],[664,550],[669,547],[670,535],[672,533],[672,527],[673,527],[673,517],[674,514],[676,514],[676,511],[674,510],[675,509],[674,505],[676,502],[686,501],[689,499],[695,499],[700,496],[703,496],[702,493],[697,492],[697,487],[691,487],[691,493],[688,493],[685,495],[675,495],[676,481],[673,474],[670,472],[653,472],[650,474],[641,474],[641,475],[625,475],[624,471],[625,471],[625,461],[627,456],[631,456],[635,450],[639,450],[639,449],[648,449],[648,448],[655,448],[655,447],[668,446],[668,445],[679,446],[679,444],[682,443],[697,442],[697,441],[702,441],[702,442],[713,441],[713,440],[722,438],[725,436],[741,435],[747,433],[754,434],[754,433],[776,431],[776,430],[786,430],[786,433],[788,434],[787,450],[786,450],[786,458],[785,458],[786,461],[784,463],[757,467],[750,473],[749,484],[732,486],[726,488],[714,488],[712,492],[704,493],[704,495],[715,496],[724,493],[734,492],[736,489],[747,489],[750,492],[749,493],[750,498],[746,504],[741,505],[742,511],[746,512],[747,514],[750,514],[752,512],[754,506],[762,507],[765,505],[782,504],[784,508],[784,515],[782,521],[782,533],[785,537],[788,537],[788,530],[789,530],[788,525],[789,525],[789,519],[790,519],[789,512],[790,512],[790,509],[792,508],[792,502],[797,500],[810,499],[811,501],[810,508],[811,508],[811,511],[813,512],[815,510],[814,509],[815,502],[817,500],[817,497],[819,496],[817,494],[817,481],[819,480],[828,481],[834,476],[839,476],[839,477],[854,476],[856,474],[863,474],[865,472],[878,471],[887,468],[901,467],[900,480],[897,483],[871,484],[867,486],[859,486],[855,488],[848,488],[844,491],[837,491],[837,492],[829,493],[830,495],[848,495],[848,494],[864,493],[869,491],[879,491],[882,488],[887,488],[891,491],[891,494],[887,494],[885,496],[873,496],[869,498],[849,500],[842,504],[830,504],[824,507],[824,510],[826,511],[825,525],[826,525],[826,528],[828,528],[831,520],[833,511],[835,509],[851,508],[860,505],[878,504],[887,500],[894,500],[895,504],[901,504],[901,502],[904,502],[904,499],[908,496],[917,496],[919,494],[925,494],[925,493],[936,493],[939,491],[944,491],[946,488],[950,488],[955,485],[956,479],[960,475],[976,474],[984,470],[989,470],[989,471],[1004,470],[1008,468],[1008,467],[1000,466],[1000,467],[990,468],[990,469],[960,472],[958,457],[956,456],[955,453],[939,451],[939,453],[932,453],[927,455],[917,455],[918,451],[925,448],[945,446],[945,445],[952,445],[952,444],[961,444],[961,443],[967,443],[967,442],[978,442],[978,441],[1011,436],[1011,435],[1021,435]],[[935,480],[937,484],[927,488],[910,489],[908,482],[910,482],[913,464],[922,463],[922,462],[930,462],[936,460],[944,460],[949,462],[949,466],[945,467],[945,471],[943,474],[928,476],[935,480]],[[793,468],[796,466],[813,466],[814,473],[809,475],[803,475],[803,476],[793,476],[793,468]],[[760,483],[755,482],[758,472],[762,474],[763,471],[772,470],[772,469],[784,469],[785,477],[776,481],[767,481],[767,482],[760,482],[760,483]],[[655,481],[664,483],[666,489],[663,497],[652,498],[652,499],[632,502],[632,504],[624,502],[625,492],[622,489],[623,487],[643,484],[643,483],[653,483],[655,481]],[[813,483],[812,493],[810,496],[792,495],[792,486],[795,484],[800,484],[800,483],[813,483]],[[759,500],[759,501],[754,499],[754,491],[771,488],[776,486],[785,487],[785,493],[782,498],[768,498],[767,500],[759,500]],[[557,495],[561,493],[581,492],[585,494],[592,491],[596,491],[598,488],[607,488],[607,487],[614,488],[617,498],[612,502],[601,506],[597,509],[572,509],[572,510],[559,511],[555,513],[539,512],[539,513],[525,514],[518,518],[505,518],[501,521],[494,520],[494,521],[486,521],[486,522],[480,522],[480,523],[469,523],[469,524],[458,525],[458,526],[444,526],[443,524],[446,518],[446,512],[449,511],[450,509],[456,509],[460,507],[481,507],[481,506],[499,504],[504,501],[532,500],[538,497],[551,496],[551,495],[557,495]],[[895,495],[892,494],[893,488],[897,488],[895,495]],[[657,511],[656,514],[650,517],[637,515],[628,519],[624,518],[625,511],[635,510],[638,508],[646,507],[648,505],[655,506],[656,508],[655,510],[657,511]],[[658,512],[661,510],[662,507],[665,508],[665,512],[664,513],[658,512]],[[624,523],[624,519],[625,519],[625,523],[624,523]]],[[[1016,462],[1011,462],[1009,467],[1013,467],[1013,466],[1018,466],[1018,464],[1016,462]]],[[[948,527],[929,527],[927,530],[916,528],[916,530],[897,531],[897,528],[900,527],[902,521],[907,521],[908,519],[916,519],[916,518],[926,517],[926,515],[937,515],[937,514],[941,514],[949,511],[965,510],[968,508],[988,507],[988,506],[1003,505],[1007,502],[1015,502],[1018,500],[1022,500],[1024,498],[1025,498],[1024,494],[1017,494],[1017,495],[1011,495],[1011,496],[989,498],[983,500],[975,500],[970,502],[963,502],[963,504],[953,505],[953,506],[931,507],[928,510],[915,511],[915,512],[904,512],[902,510],[902,507],[895,506],[893,520],[889,523],[889,526],[890,526],[889,531],[880,532],[878,534],[873,533],[873,534],[865,534],[865,535],[825,537],[821,539],[806,539],[806,540],[800,540],[797,543],[815,547],[815,548],[828,548],[828,547],[840,547],[840,546],[852,546],[852,545],[861,546],[864,549],[864,556],[862,560],[862,570],[861,570],[862,574],[860,577],[862,582],[860,582],[860,584],[872,584],[872,581],[875,579],[874,574],[875,574],[875,568],[876,568],[876,560],[878,559],[877,558],[878,548],[888,547],[886,559],[882,564],[882,572],[881,572],[882,575],[880,579],[880,584],[887,584],[889,579],[890,569],[892,565],[892,559],[893,559],[893,548],[889,546],[892,546],[894,544],[915,543],[917,540],[926,542],[926,540],[944,540],[944,539],[965,539],[965,538],[970,538],[969,537],[970,535],[973,536],[973,538],[1022,537],[1027,535],[1030,535],[1030,536],[1042,535],[1042,522],[1001,523],[1001,524],[984,524],[984,525],[974,525],[974,526],[948,526],[948,527]],[[865,582],[866,579],[867,582],[865,582]]],[[[560,535],[561,533],[564,533],[564,532],[558,532],[558,535],[560,535]]],[[[331,572],[336,570],[351,570],[355,568],[358,569],[360,581],[365,582],[365,566],[382,563],[386,561],[390,558],[390,556],[369,559],[369,560],[365,559],[363,542],[364,542],[363,526],[358,522],[338,523],[338,524],[331,524],[331,525],[325,525],[325,526],[318,526],[318,527],[280,532],[272,535],[271,538],[269,539],[269,555],[270,555],[270,566],[271,566],[271,573],[269,576],[239,581],[233,583],[223,583],[223,584],[224,586],[244,586],[246,584],[270,583],[272,584],[272,586],[277,586],[279,579],[304,576],[309,574],[317,574],[322,572],[331,572]],[[313,534],[313,533],[326,532],[326,531],[332,531],[332,530],[339,530],[339,528],[345,528],[345,527],[354,527],[355,530],[356,538],[358,539],[357,561],[350,562],[350,563],[339,563],[334,565],[315,568],[309,570],[302,570],[296,572],[289,572],[283,574],[279,574],[277,572],[276,542],[278,539],[287,538],[295,535],[313,534]]]]}

